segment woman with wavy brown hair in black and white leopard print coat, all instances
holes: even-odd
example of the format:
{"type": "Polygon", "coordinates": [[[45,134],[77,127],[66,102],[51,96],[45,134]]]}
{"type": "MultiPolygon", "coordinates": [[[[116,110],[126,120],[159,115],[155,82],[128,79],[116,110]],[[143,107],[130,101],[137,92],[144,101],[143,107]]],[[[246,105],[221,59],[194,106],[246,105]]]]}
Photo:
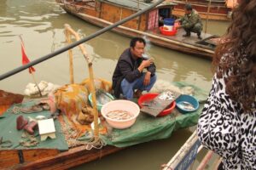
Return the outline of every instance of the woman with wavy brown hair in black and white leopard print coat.
{"type": "Polygon", "coordinates": [[[215,75],[198,122],[218,169],[256,169],[256,0],[241,0],[213,59],[215,75]]]}

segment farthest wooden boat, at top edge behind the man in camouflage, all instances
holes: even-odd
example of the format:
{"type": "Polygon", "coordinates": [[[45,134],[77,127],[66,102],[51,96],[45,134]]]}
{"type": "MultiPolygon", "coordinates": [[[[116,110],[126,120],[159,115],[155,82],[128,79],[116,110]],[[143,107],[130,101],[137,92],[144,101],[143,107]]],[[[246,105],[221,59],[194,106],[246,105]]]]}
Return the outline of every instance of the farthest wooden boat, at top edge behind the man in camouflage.
{"type": "Polygon", "coordinates": [[[209,0],[176,0],[174,2],[177,5],[174,6],[172,14],[176,16],[183,16],[185,4],[191,3],[202,19],[230,20],[231,18],[232,8],[227,7],[226,0],[212,0],[210,5],[209,0]]]}

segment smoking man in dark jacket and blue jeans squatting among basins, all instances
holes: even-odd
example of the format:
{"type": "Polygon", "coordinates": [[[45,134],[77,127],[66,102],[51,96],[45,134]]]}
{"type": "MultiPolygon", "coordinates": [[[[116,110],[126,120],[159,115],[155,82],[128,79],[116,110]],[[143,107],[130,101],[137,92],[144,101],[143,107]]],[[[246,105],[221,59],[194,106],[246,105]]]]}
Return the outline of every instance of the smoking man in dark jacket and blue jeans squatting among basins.
{"type": "Polygon", "coordinates": [[[143,58],[146,42],[141,37],[131,39],[130,48],[125,49],[113,72],[113,94],[125,99],[139,98],[144,90],[149,91],[156,81],[153,59],[143,58]],[[146,69],[146,71],[143,71],[146,69]],[[137,90],[134,92],[134,90],[137,90]]]}

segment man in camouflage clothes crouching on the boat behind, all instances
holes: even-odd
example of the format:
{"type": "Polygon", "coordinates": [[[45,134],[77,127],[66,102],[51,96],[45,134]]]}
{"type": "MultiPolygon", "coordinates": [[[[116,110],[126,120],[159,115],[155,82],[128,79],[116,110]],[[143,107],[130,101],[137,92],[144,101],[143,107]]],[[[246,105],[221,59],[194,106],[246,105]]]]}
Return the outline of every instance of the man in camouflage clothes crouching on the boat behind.
{"type": "Polygon", "coordinates": [[[198,12],[192,8],[191,4],[185,5],[185,15],[176,20],[181,23],[181,27],[186,31],[183,37],[190,37],[191,32],[195,32],[197,37],[201,39],[202,23],[201,17],[198,12]]]}

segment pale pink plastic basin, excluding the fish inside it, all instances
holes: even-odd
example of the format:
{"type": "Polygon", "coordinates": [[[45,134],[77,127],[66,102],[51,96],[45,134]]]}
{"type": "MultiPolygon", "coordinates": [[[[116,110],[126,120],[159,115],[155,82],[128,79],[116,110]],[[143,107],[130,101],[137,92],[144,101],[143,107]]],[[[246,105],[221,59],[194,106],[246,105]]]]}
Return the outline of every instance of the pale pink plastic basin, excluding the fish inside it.
{"type": "Polygon", "coordinates": [[[140,113],[140,108],[136,103],[132,101],[118,99],[118,100],[110,101],[107,104],[103,105],[101,112],[102,112],[102,116],[106,119],[106,121],[111,127],[122,129],[122,128],[131,127],[136,122],[136,118],[140,113]],[[133,116],[130,119],[125,119],[125,120],[115,120],[106,116],[106,114],[109,111],[117,111],[117,110],[128,111],[131,114],[133,114],[133,116]]]}

